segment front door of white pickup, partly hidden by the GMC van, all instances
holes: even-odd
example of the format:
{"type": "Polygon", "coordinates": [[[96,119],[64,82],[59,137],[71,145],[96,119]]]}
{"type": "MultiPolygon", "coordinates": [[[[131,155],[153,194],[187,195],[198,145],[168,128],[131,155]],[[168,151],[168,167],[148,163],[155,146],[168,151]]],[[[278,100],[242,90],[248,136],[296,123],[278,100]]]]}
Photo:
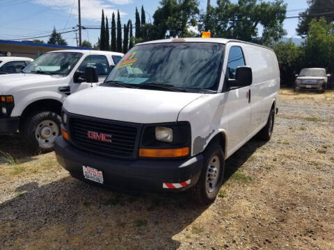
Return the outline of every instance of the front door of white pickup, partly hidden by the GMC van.
{"type": "Polygon", "coordinates": [[[97,76],[99,77],[98,83],[74,83],[72,81],[72,84],[70,84],[70,92],[73,94],[74,92],[77,92],[79,90],[84,90],[86,88],[91,88],[92,86],[100,85],[104,82],[104,79],[106,76],[108,76],[111,68],[110,68],[110,62],[108,58],[104,55],[90,55],[86,56],[86,58],[81,62],[79,65],[77,72],[84,72],[86,67],[95,67],[97,76]]]}

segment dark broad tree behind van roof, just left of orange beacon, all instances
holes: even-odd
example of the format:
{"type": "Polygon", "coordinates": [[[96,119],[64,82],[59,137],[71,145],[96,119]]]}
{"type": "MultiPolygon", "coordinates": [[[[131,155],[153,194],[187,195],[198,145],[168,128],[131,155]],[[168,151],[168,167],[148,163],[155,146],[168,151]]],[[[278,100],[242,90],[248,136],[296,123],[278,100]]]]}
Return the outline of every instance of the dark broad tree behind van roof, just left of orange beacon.
{"type": "Polygon", "coordinates": [[[189,26],[197,25],[198,0],[161,0],[160,4],[153,15],[155,27],[147,27],[151,38],[182,38],[189,26]]]}

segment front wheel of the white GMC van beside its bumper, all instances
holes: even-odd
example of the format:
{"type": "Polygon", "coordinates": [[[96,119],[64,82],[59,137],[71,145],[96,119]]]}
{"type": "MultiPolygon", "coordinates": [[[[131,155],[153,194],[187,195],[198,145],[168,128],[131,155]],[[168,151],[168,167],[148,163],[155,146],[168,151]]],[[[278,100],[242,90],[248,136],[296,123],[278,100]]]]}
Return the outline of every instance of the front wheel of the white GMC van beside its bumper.
{"type": "Polygon", "coordinates": [[[216,199],[223,183],[225,170],[223,148],[218,142],[213,142],[205,149],[204,157],[200,178],[191,189],[191,194],[200,205],[209,206],[216,199]]]}

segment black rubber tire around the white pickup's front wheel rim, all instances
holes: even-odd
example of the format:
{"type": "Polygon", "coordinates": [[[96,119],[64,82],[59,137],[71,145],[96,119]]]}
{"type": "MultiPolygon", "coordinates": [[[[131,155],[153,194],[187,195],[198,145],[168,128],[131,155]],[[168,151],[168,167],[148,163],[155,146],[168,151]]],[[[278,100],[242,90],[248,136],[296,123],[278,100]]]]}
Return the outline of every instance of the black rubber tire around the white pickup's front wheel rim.
{"type": "Polygon", "coordinates": [[[51,124],[53,124],[52,126],[57,126],[54,126],[52,138],[61,135],[61,117],[58,114],[52,111],[38,111],[31,115],[27,115],[22,122],[20,132],[28,151],[35,153],[40,150],[54,149],[54,143],[51,142],[49,144],[40,145],[40,142],[38,142],[35,135],[37,127],[45,121],[51,121],[51,124]]]}

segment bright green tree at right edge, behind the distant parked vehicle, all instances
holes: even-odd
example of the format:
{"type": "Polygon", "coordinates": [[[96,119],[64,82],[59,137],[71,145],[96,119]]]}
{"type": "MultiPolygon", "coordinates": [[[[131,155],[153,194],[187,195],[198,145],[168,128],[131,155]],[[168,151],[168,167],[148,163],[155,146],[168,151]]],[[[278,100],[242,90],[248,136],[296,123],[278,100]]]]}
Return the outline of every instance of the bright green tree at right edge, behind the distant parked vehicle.
{"type": "Polygon", "coordinates": [[[305,67],[324,67],[334,72],[334,24],[323,17],[310,22],[304,46],[305,67]]]}

